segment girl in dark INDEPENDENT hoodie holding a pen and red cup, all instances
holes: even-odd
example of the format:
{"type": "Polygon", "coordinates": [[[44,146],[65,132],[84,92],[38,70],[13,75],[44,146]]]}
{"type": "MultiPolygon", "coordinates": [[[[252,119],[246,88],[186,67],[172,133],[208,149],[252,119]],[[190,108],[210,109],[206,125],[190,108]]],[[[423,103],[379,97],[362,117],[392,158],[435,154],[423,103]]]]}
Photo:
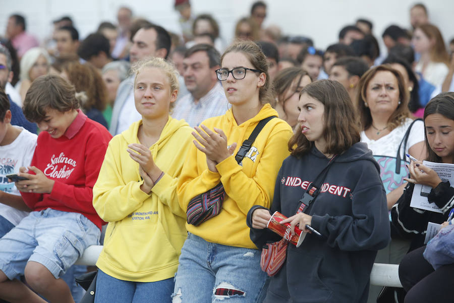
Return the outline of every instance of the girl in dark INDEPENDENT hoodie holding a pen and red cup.
{"type": "Polygon", "coordinates": [[[366,302],[377,250],[390,241],[378,164],[360,142],[352,102],[340,83],[309,84],[298,108],[300,127],[277,175],[271,210],[251,208],[248,226],[259,248],[280,239],[265,229],[275,211],[289,217],[282,223],[290,222],[292,233],[298,225],[308,234],[299,247],[289,243],[264,302],[366,302]],[[319,193],[296,214],[314,185],[319,193]],[[306,224],[322,236],[311,234],[306,224]]]}

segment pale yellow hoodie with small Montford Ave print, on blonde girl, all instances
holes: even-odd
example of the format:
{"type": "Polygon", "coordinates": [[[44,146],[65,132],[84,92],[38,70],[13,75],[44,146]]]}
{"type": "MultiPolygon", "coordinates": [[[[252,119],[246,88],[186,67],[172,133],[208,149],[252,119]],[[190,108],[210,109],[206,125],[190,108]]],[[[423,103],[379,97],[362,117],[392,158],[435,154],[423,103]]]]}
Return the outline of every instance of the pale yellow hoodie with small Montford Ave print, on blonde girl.
{"type": "Polygon", "coordinates": [[[187,236],[176,188],[193,129],[184,120],[168,118],[150,147],[165,174],[146,194],[140,189],[139,164],[126,151],[128,144],[139,143],[141,124],[137,121],[112,138],[93,187],[93,206],[109,222],[96,266],[120,280],[154,282],[175,275],[187,236]]]}

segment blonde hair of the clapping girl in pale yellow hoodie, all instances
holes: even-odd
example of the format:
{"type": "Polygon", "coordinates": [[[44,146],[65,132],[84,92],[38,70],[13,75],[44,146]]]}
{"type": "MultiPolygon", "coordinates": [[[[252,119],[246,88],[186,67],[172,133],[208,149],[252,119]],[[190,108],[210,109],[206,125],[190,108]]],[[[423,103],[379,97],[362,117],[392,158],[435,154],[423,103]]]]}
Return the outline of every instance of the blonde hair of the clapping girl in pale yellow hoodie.
{"type": "MultiPolygon", "coordinates": [[[[178,76],[180,75],[173,64],[168,63],[162,58],[147,58],[136,62],[131,67],[131,73],[134,74],[134,86],[136,84],[137,76],[145,68],[157,68],[164,72],[167,77],[168,83],[171,88],[171,93],[174,90],[177,92],[180,90],[180,83],[178,82],[178,76]]],[[[171,103],[170,109],[174,108],[175,102],[171,103]]]]}

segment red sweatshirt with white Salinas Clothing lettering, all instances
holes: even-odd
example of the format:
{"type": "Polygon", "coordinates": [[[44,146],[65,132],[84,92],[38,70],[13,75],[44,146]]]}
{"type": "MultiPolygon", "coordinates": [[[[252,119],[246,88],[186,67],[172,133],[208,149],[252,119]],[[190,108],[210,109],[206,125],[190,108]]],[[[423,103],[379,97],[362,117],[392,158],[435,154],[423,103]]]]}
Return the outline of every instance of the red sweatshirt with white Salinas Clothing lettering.
{"type": "Polygon", "coordinates": [[[92,190],[112,136],[104,126],[78,111],[60,138],[54,139],[45,131],[38,136],[30,166],[55,181],[52,192],[21,195],[32,211],[51,208],[81,213],[101,228],[103,221],[93,208],[92,190]]]}

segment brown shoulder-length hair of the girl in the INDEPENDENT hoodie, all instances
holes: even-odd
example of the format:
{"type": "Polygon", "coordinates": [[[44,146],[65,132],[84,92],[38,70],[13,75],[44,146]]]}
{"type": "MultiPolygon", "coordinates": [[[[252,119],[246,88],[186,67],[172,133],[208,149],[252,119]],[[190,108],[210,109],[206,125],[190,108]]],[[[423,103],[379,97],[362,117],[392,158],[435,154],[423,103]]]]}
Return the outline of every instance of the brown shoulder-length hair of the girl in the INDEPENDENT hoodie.
{"type": "MultiPolygon", "coordinates": [[[[320,101],[324,106],[323,138],[326,149],[320,150],[327,154],[342,154],[353,144],[361,141],[358,123],[355,119],[355,109],[350,95],[344,86],[332,80],[319,80],[306,85],[300,93],[308,94],[320,101]]],[[[296,131],[289,141],[292,156],[301,157],[309,153],[314,142],[309,141],[301,131],[296,131]]]]}

